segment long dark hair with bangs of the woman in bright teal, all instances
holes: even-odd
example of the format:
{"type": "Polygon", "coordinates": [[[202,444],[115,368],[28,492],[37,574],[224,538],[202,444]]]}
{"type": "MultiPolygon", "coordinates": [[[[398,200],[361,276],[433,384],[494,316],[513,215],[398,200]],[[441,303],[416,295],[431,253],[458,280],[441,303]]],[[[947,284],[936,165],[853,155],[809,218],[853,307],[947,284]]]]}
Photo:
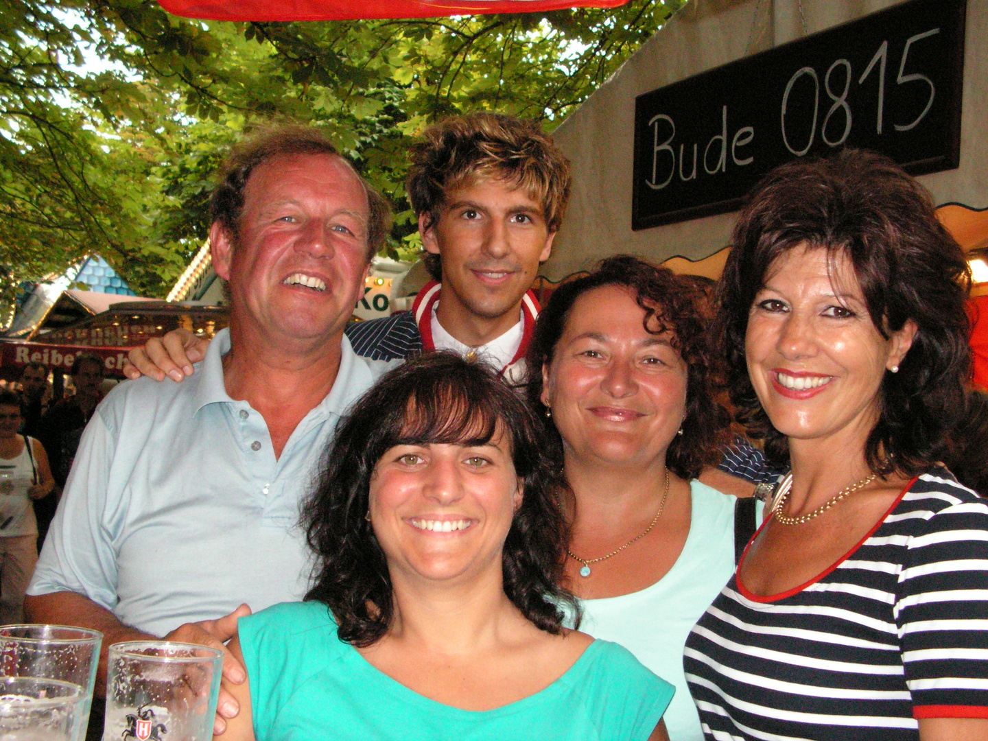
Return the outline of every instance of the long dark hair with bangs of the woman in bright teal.
{"type": "Polygon", "coordinates": [[[525,617],[558,634],[575,598],[560,586],[568,538],[560,474],[542,455],[535,415],[494,371],[449,353],[428,353],[384,375],[337,429],[302,522],[316,554],[306,600],[325,603],[342,640],[369,646],[391,625],[394,605],[384,553],[368,512],[371,477],[399,445],[510,443],[522,504],[504,543],[504,591],[525,617]]]}

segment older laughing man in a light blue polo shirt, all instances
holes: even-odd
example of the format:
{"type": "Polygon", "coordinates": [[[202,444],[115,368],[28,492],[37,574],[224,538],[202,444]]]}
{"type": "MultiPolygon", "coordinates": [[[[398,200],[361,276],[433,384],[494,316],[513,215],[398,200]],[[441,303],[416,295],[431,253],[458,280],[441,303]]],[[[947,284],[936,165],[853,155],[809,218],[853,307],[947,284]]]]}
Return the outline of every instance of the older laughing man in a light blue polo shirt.
{"type": "Polygon", "coordinates": [[[343,335],[387,230],[380,197],[308,128],[260,132],[223,176],[209,239],[229,331],[192,378],[127,382],[99,407],[29,589],[31,619],[101,630],[105,647],[218,645],[238,606],[304,595],[299,500],[380,371],[343,335]]]}

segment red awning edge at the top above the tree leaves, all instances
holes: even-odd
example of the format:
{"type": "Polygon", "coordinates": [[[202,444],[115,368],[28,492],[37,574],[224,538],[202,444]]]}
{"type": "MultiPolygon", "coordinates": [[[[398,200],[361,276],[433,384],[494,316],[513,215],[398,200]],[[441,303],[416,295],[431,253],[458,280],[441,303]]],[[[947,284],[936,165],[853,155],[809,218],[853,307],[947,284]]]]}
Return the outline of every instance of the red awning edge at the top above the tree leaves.
{"type": "Polygon", "coordinates": [[[176,16],[209,21],[356,21],[617,8],[627,0],[158,0],[176,16]]]}

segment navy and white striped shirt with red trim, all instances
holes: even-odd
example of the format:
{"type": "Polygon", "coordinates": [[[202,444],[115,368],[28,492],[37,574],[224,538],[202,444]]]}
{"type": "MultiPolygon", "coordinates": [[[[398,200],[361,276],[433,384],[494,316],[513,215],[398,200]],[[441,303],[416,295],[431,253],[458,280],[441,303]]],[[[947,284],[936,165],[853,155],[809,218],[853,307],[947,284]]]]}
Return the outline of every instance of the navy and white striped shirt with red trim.
{"type": "Polygon", "coordinates": [[[815,580],[758,597],[735,572],[683,663],[716,741],[900,741],[917,718],[988,717],[988,501],[936,468],[815,580]]]}

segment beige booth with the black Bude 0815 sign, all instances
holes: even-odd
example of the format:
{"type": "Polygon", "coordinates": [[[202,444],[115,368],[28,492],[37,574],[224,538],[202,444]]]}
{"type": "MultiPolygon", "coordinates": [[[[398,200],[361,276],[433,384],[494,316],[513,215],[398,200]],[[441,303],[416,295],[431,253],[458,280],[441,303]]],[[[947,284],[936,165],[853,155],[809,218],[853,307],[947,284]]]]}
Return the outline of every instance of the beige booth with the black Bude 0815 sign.
{"type": "Polygon", "coordinates": [[[769,170],[872,149],[968,252],[988,387],[986,112],[988,0],[691,0],[555,129],[573,196],[544,276],[621,252],[717,278],[769,170]]]}

